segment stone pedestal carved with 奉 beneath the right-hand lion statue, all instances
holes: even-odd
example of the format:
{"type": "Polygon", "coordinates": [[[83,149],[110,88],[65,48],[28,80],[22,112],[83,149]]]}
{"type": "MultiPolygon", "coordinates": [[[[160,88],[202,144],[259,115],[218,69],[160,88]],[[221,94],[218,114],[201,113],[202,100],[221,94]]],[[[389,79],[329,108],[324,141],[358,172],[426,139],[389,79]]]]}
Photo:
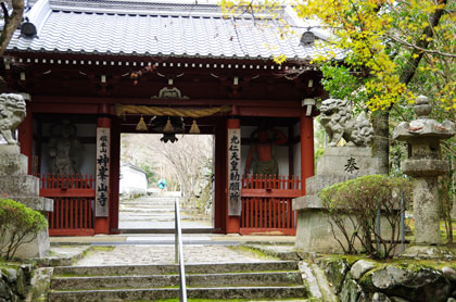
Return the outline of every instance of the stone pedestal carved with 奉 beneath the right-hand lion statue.
{"type": "MultiPolygon", "coordinates": [[[[301,253],[343,253],[342,247],[332,234],[328,212],[318,193],[333,184],[377,174],[378,171],[379,162],[377,158],[372,158],[370,148],[327,148],[324,155],[318,159],[317,175],[305,181],[307,194],[293,200],[293,210],[297,211],[296,250],[301,253]]],[[[347,226],[352,225],[347,215],[341,215],[346,219],[347,226]]],[[[350,227],[347,229],[350,230],[350,227]]],[[[343,242],[343,236],[335,226],[334,232],[343,242]]]]}

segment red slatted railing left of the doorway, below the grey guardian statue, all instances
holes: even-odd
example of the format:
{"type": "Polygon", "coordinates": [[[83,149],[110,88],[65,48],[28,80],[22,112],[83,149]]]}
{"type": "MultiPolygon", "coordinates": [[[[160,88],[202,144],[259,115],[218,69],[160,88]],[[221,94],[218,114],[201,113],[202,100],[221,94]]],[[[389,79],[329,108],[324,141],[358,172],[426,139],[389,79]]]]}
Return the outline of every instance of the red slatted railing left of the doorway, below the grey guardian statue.
{"type": "Polygon", "coordinates": [[[93,176],[42,174],[39,178],[40,196],[54,200],[54,211],[48,214],[49,235],[93,235],[93,176]]]}

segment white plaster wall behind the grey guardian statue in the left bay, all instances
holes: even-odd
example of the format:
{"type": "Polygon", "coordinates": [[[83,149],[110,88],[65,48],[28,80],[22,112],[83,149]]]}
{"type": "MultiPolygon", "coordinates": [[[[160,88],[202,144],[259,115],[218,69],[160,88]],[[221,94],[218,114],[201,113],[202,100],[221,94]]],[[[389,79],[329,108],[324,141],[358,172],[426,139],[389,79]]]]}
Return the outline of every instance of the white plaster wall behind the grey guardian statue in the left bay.
{"type": "MultiPolygon", "coordinates": [[[[43,123],[42,136],[50,137],[51,123],[43,123]]],[[[97,125],[96,124],[76,124],[76,136],[77,137],[93,137],[93,141],[97,137],[97,125]]],[[[84,143],[84,150],[81,151],[81,166],[80,173],[93,175],[96,172],[96,158],[97,158],[97,146],[96,143],[84,143]]],[[[48,155],[48,143],[41,146],[41,173],[49,173],[50,158],[48,155]]]]}

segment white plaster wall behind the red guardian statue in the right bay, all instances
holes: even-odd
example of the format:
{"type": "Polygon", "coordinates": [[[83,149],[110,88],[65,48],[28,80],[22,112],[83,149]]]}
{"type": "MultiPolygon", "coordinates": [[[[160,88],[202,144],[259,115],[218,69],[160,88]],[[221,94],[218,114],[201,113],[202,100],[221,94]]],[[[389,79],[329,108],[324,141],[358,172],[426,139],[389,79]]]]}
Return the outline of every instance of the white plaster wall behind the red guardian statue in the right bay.
{"type": "MultiPolygon", "coordinates": [[[[253,126],[241,126],[241,136],[242,138],[250,138],[251,134],[257,127],[253,126]]],[[[286,136],[288,135],[287,127],[277,127],[276,129],[282,131],[286,136]]],[[[243,144],[241,147],[241,163],[242,163],[242,173],[245,168],[246,158],[249,155],[250,146],[243,144]]],[[[274,146],[274,154],[279,165],[279,174],[280,175],[289,175],[289,165],[288,165],[288,146],[274,146]]]]}

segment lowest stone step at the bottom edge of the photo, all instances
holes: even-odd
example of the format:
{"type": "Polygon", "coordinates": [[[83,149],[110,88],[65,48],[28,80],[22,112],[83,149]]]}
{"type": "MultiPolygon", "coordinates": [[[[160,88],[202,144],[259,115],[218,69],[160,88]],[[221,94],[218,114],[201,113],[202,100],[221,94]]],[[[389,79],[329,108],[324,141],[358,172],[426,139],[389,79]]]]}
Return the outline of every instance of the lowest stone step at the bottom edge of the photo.
{"type": "MultiPolygon", "coordinates": [[[[111,289],[111,290],[77,290],[77,291],[51,291],[49,301],[53,302],[92,302],[92,301],[135,301],[176,299],[179,289],[111,289]]],[[[229,287],[229,288],[190,288],[187,289],[189,299],[213,299],[224,301],[229,299],[287,299],[305,298],[306,290],[303,286],[289,287],[229,287]]]]}

